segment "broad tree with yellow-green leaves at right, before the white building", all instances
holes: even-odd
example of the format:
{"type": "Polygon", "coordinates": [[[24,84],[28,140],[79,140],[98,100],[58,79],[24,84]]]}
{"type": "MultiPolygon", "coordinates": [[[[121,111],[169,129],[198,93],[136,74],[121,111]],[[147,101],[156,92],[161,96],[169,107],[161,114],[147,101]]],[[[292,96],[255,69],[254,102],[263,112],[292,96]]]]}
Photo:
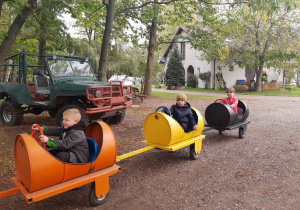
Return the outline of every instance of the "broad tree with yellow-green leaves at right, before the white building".
{"type": "Polygon", "coordinates": [[[254,0],[251,4],[212,7],[211,14],[197,8],[203,19],[189,27],[191,44],[203,51],[207,60],[255,69],[255,90],[261,91],[263,67],[291,68],[291,59],[297,58],[298,4],[292,0],[254,0]]]}

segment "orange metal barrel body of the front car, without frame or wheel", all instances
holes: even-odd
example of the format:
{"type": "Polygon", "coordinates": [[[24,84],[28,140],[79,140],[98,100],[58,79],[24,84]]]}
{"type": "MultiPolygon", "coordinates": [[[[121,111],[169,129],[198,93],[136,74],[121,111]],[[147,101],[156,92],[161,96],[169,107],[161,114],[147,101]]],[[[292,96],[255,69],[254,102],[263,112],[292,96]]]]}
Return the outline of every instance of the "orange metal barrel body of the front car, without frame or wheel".
{"type": "Polygon", "coordinates": [[[94,122],[88,126],[86,136],[97,142],[100,153],[94,162],[73,164],[52,156],[32,136],[17,135],[17,179],[28,192],[34,192],[114,165],[117,151],[110,127],[102,121],[94,122]]]}

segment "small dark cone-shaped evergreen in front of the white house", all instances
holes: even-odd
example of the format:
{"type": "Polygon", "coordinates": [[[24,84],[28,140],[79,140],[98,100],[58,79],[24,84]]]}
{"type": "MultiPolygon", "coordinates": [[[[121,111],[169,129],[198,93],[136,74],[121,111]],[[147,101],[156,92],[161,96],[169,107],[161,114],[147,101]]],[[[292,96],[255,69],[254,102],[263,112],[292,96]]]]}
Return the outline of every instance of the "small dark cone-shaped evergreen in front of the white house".
{"type": "Polygon", "coordinates": [[[170,60],[167,64],[166,70],[166,85],[171,86],[184,86],[184,67],[181,62],[181,55],[179,54],[177,44],[173,45],[173,49],[170,54],[170,60]]]}

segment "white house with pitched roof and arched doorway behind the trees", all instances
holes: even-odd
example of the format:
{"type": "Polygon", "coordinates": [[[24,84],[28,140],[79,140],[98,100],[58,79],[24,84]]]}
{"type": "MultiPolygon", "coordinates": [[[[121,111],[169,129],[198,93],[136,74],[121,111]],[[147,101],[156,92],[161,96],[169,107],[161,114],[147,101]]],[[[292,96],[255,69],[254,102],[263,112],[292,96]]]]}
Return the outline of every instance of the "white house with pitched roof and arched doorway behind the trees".
{"type": "MultiPolygon", "coordinates": [[[[187,28],[185,26],[180,26],[178,28],[163,57],[160,59],[160,63],[165,64],[165,70],[167,68],[167,63],[169,60],[169,52],[171,51],[173,44],[178,44],[178,49],[183,56],[182,64],[185,69],[185,81],[187,81],[188,76],[191,74],[194,74],[199,78],[200,73],[210,72],[211,78],[208,84],[208,88],[213,89],[214,87],[219,87],[217,78],[218,73],[222,73],[223,80],[226,82],[227,87],[233,87],[238,80],[251,82],[251,80],[255,79],[254,70],[248,68],[240,68],[237,65],[229,68],[229,66],[223,66],[221,62],[217,60],[212,60],[210,62],[200,60],[199,58],[201,57],[201,52],[194,49],[191,44],[184,39],[176,40],[176,37],[178,35],[181,35],[183,37],[189,36],[187,28]]],[[[282,74],[278,75],[276,72],[270,69],[265,69],[265,71],[268,73],[269,81],[283,81],[282,74]],[[270,78],[270,75],[272,75],[272,78],[270,78]]],[[[200,79],[198,79],[198,87],[205,87],[205,83],[200,79]]]]}

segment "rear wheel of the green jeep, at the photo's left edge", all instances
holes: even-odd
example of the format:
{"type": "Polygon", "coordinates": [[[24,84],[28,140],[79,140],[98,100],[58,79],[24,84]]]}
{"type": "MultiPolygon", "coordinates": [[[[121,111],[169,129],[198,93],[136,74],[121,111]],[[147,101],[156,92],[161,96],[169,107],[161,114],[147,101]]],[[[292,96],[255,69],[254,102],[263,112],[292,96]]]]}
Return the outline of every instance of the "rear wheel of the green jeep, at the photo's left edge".
{"type": "Polygon", "coordinates": [[[15,126],[21,125],[23,122],[23,109],[19,104],[6,100],[0,107],[0,118],[3,125],[15,126]]]}

